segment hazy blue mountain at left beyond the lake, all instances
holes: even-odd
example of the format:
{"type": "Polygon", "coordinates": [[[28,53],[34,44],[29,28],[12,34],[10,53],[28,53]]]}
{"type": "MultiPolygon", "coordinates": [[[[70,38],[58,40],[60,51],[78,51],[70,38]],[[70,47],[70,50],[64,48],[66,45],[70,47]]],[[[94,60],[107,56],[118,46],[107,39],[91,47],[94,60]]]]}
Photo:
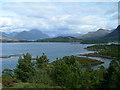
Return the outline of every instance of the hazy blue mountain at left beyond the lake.
{"type": "Polygon", "coordinates": [[[6,37],[13,40],[37,40],[48,38],[49,36],[38,29],[32,29],[30,31],[12,32],[9,34],[1,32],[1,37],[6,37]]]}

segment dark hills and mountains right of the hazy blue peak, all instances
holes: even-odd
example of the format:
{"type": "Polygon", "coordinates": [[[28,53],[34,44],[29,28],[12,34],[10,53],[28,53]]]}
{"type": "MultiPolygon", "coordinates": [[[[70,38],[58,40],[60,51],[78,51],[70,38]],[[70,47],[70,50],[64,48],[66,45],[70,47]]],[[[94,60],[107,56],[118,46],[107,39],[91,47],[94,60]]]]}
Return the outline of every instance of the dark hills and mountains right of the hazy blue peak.
{"type": "Polygon", "coordinates": [[[72,36],[59,36],[38,40],[40,42],[82,42],[82,43],[107,43],[117,41],[120,34],[120,25],[114,30],[98,29],[95,32],[88,32],[78,38],[72,36]]]}

